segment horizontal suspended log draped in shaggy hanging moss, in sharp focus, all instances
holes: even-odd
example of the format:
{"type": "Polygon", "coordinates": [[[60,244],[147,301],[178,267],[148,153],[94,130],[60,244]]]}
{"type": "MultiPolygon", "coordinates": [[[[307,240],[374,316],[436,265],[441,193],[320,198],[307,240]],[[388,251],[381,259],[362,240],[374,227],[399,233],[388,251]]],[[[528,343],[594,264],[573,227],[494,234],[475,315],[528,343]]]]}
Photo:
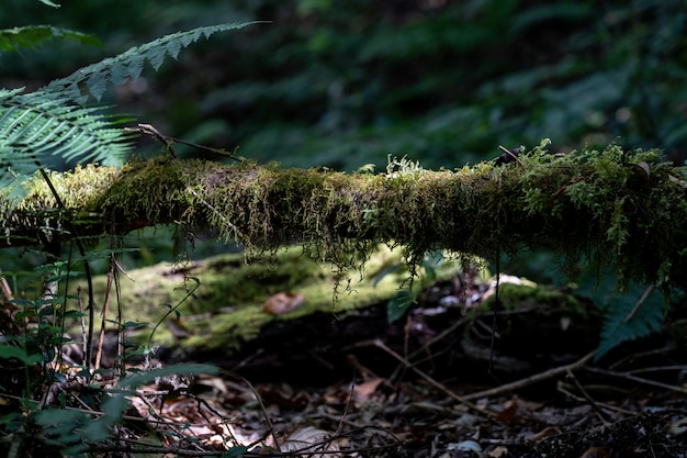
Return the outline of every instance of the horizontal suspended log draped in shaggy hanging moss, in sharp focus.
{"type": "Polygon", "coordinates": [[[410,260],[439,248],[486,258],[547,248],[611,265],[621,283],[684,288],[685,174],[657,150],[617,146],[541,146],[507,165],[439,171],[401,160],[382,174],[160,157],[52,174],[68,211],[32,180],[0,202],[0,245],[180,223],[259,249],[304,244],[342,267],[378,243],[406,247],[410,260]]]}

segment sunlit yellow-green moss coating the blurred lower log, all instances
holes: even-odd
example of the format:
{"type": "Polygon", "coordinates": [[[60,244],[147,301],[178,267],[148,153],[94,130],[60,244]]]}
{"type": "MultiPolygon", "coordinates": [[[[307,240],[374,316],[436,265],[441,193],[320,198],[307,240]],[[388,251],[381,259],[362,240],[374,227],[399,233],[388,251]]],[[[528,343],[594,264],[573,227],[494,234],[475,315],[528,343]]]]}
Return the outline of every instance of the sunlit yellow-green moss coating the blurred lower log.
{"type": "MultiPolygon", "coordinates": [[[[302,247],[248,262],[244,254],[230,254],[189,265],[160,264],[127,272],[133,281],[121,280],[119,298],[125,321],[146,324],[136,337],[143,343],[170,308],[198,284],[192,279],[198,279],[200,286],[178,308],[192,334],[183,345],[230,350],[257,336],[262,326],[274,320],[293,320],[314,312],[330,313],[334,320],[352,310],[387,301],[409,273],[407,269],[398,269],[380,275],[390,265],[401,265],[403,253],[379,246],[368,258],[364,275],[358,269],[340,270],[322,262],[302,247]],[[303,304],[284,315],[264,312],[268,298],[288,291],[302,294],[303,304]]],[[[438,278],[448,278],[455,270],[447,264],[437,273],[438,278]]],[[[98,303],[104,301],[105,283],[105,277],[94,279],[98,303]]],[[[161,325],[154,342],[171,345],[174,339],[170,329],[161,325]]]]}

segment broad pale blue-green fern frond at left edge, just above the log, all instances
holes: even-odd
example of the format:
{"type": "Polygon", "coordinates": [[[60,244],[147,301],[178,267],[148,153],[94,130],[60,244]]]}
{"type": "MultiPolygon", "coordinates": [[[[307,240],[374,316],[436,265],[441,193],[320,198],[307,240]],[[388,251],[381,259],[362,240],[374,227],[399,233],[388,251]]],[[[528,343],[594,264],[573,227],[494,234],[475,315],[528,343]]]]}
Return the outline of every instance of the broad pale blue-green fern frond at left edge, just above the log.
{"type": "MultiPolygon", "coordinates": [[[[22,175],[35,171],[36,157],[121,165],[133,147],[132,133],[117,129],[124,121],[103,114],[100,107],[75,105],[46,91],[22,93],[0,89],[0,165],[22,175]]],[[[8,186],[10,174],[1,174],[8,186]]]]}

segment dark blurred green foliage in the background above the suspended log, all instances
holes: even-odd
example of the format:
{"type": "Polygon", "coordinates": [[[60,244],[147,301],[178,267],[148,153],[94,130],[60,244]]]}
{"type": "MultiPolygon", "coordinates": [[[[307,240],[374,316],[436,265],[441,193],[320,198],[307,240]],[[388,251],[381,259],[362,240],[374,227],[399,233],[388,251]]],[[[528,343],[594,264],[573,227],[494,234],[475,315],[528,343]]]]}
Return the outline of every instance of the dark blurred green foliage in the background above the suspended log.
{"type": "Polygon", "coordinates": [[[1,82],[247,20],[271,24],[196,45],[111,100],[169,135],[284,166],[382,168],[393,154],[453,168],[543,137],[687,158],[683,0],[10,0],[3,27],[49,23],[104,47],[3,54],[1,82]]]}

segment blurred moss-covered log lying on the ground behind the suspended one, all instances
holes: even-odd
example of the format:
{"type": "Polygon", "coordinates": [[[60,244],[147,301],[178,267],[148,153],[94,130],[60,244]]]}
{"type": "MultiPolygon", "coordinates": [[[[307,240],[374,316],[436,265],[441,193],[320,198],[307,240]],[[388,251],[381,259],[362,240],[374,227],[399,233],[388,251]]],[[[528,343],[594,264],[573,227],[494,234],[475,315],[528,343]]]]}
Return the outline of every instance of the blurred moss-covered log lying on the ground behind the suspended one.
{"type": "MultiPolygon", "coordinates": [[[[217,350],[227,356],[243,353],[247,343],[266,334],[288,333],[284,329],[294,324],[328,323],[331,329],[333,322],[365,315],[371,308],[379,309],[378,315],[385,323],[384,305],[398,294],[409,275],[403,268],[401,252],[380,245],[370,253],[364,276],[356,269],[334,269],[304,255],[297,246],[280,250],[269,262],[247,264],[241,253],[182,264],[160,262],[127,271],[127,278],[119,282],[117,301],[125,320],[139,324],[135,329],[128,327],[131,340],[144,344],[151,339],[178,353],[217,350]],[[302,301],[283,311],[269,306],[284,293],[297,294],[302,301]],[[177,314],[171,308],[181,314],[181,321],[173,320],[177,314]],[[156,326],[158,322],[160,325],[156,326]],[[185,328],[176,328],[181,323],[185,328]]],[[[417,272],[413,288],[418,294],[437,281],[453,281],[461,268],[455,262],[433,267],[432,275],[417,272]]],[[[104,303],[106,284],[106,275],[93,278],[95,303],[104,303]]],[[[544,291],[533,287],[530,290],[532,297],[534,291],[544,291]]],[[[556,300],[563,302],[559,297],[556,300]]],[[[542,306],[552,302],[541,301],[542,306]]],[[[111,311],[109,317],[116,321],[116,311],[111,311]]],[[[342,324],[335,326],[338,325],[342,324]]],[[[76,335],[79,326],[80,322],[75,321],[76,335]]],[[[381,332],[380,327],[370,328],[381,332]]],[[[299,333],[292,339],[296,337],[299,333]]],[[[315,342],[313,338],[309,345],[315,342]]],[[[281,349],[285,346],[286,343],[278,345],[281,349]]]]}

